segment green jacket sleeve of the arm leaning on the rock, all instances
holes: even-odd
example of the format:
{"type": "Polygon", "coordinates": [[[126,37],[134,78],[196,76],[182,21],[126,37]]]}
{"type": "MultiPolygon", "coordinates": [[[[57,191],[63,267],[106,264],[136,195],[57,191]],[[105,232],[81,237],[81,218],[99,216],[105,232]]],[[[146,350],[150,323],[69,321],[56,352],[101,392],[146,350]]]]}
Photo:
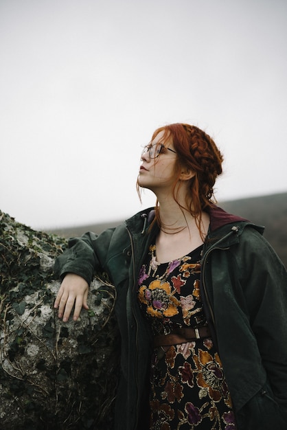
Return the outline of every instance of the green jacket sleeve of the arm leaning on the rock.
{"type": "Polygon", "coordinates": [[[91,283],[95,271],[104,271],[106,253],[115,229],[107,229],[100,236],[87,232],[71,238],[68,249],[56,259],[54,273],[61,280],[67,273],[76,273],[91,283]]]}

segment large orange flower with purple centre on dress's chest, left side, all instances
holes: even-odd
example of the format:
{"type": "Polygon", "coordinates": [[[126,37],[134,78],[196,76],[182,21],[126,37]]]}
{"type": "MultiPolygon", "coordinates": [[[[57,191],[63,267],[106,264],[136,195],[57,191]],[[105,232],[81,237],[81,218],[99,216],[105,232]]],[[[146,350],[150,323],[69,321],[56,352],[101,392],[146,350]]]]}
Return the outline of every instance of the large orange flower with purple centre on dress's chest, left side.
{"type": "Polygon", "coordinates": [[[179,300],[172,295],[168,282],[154,280],[147,287],[139,288],[139,300],[147,305],[147,313],[152,317],[173,317],[179,313],[179,300]]]}

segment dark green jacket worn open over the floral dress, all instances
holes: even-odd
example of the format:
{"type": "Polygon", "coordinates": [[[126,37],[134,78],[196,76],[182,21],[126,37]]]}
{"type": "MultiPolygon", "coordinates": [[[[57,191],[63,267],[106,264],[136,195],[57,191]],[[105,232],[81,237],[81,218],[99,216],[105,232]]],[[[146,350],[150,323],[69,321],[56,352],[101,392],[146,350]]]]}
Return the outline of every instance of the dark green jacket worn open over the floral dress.
{"type": "MultiPolygon", "coordinates": [[[[105,271],[117,289],[122,376],[115,428],[148,429],[144,405],[152,336],[137,302],[137,278],[157,234],[154,211],[139,212],[99,236],[69,240],[55,271],[91,282],[105,271]]],[[[287,273],[262,236],[264,227],[209,211],[200,293],[231,392],[238,430],[287,428],[287,273]]]]}

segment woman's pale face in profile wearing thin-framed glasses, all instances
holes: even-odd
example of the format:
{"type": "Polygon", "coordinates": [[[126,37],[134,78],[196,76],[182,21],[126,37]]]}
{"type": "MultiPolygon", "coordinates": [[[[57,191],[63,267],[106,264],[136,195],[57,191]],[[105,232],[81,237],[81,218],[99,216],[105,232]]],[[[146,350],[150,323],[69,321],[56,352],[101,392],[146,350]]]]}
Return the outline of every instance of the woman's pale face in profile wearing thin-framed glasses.
{"type": "MultiPolygon", "coordinates": [[[[151,146],[162,142],[163,131],[161,131],[151,142],[151,146]]],[[[172,139],[166,140],[165,148],[161,149],[159,157],[150,158],[150,153],[145,152],[141,156],[138,183],[143,188],[152,190],[155,194],[159,190],[171,190],[174,182],[174,167],[176,164],[176,153],[172,152],[174,146],[172,139]],[[167,148],[170,148],[168,150],[167,148]]],[[[155,148],[155,147],[154,147],[155,148]]]]}

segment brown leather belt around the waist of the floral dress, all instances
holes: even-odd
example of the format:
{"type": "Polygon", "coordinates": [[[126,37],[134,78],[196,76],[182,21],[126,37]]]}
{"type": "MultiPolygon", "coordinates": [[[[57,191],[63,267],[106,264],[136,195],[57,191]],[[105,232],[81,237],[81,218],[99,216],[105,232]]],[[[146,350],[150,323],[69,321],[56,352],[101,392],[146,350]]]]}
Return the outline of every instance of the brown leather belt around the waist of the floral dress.
{"type": "Polygon", "coordinates": [[[196,339],[205,339],[206,337],[211,337],[208,326],[198,328],[176,328],[176,330],[173,330],[168,335],[154,336],[154,348],[157,348],[158,346],[177,345],[178,343],[186,343],[195,341],[196,339]]]}

